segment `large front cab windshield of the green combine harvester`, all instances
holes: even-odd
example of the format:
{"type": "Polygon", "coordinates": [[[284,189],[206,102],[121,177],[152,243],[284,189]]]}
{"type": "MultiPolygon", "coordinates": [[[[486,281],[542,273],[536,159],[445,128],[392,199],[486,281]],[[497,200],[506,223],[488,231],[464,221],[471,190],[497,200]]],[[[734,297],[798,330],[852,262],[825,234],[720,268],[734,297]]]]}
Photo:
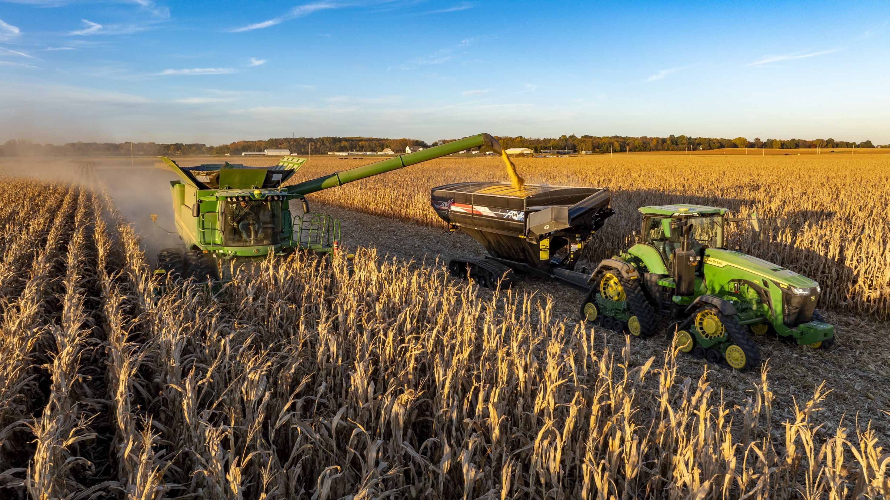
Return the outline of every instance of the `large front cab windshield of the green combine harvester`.
{"type": "Polygon", "coordinates": [[[223,245],[278,245],[281,227],[271,204],[258,200],[221,201],[223,245]]]}

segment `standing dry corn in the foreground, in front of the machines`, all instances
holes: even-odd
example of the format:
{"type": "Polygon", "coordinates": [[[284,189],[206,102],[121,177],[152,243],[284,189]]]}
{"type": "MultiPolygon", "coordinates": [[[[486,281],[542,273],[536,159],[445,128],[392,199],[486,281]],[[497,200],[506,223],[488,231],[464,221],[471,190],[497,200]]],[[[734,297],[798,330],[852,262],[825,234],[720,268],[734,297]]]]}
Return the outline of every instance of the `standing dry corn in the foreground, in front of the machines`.
{"type": "Polygon", "coordinates": [[[765,367],[728,401],[675,353],[373,249],[160,283],[106,193],[3,182],[2,498],[890,493],[869,423],[821,421],[825,384],[773,408],[765,367]]]}

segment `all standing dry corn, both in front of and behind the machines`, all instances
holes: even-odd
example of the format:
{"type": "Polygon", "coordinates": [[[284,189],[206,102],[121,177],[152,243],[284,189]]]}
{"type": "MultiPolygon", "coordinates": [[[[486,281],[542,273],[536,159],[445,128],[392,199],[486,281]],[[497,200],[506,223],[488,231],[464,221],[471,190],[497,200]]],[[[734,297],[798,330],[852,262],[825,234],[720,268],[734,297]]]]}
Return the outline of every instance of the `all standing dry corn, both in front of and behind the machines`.
{"type": "MultiPolygon", "coordinates": [[[[821,307],[864,325],[887,316],[890,158],[851,156],[514,161],[528,182],[612,190],[591,258],[627,245],[636,206],[756,210],[762,233],[731,245],[819,280],[821,307]]],[[[85,161],[129,163],[64,165],[85,161]]],[[[296,181],[370,161],[312,157],[296,181]]],[[[499,158],[450,157],[309,199],[444,232],[429,188],[492,179],[506,180],[499,158]]],[[[833,399],[849,377],[798,373],[794,347],[762,371],[693,370],[667,343],[641,357],[528,288],[492,293],[373,248],[352,273],[296,254],[217,293],[162,286],[101,178],[2,181],[0,497],[890,494],[890,415],[873,407],[886,386],[833,399]],[[789,387],[798,399],[777,398],[789,387]],[[866,406],[878,431],[856,415],[866,406]]],[[[886,351],[863,355],[887,373],[886,351]]]]}

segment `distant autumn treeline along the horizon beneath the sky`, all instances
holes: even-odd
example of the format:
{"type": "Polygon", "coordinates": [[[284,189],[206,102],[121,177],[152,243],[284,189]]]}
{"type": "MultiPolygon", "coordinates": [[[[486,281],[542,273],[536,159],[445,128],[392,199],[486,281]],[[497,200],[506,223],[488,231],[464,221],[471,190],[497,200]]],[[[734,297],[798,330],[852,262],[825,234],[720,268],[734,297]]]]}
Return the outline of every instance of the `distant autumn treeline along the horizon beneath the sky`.
{"type": "MultiPolygon", "coordinates": [[[[627,137],[562,135],[554,138],[498,137],[504,148],[529,148],[535,152],[542,149],[574,149],[599,153],[645,152],[645,151],[685,151],[688,149],[721,148],[771,148],[771,149],[810,149],[810,148],[874,148],[871,141],[835,141],[834,139],[766,139],[756,137],[718,139],[712,137],[692,137],[670,135],[668,137],[627,137]]],[[[235,141],[219,146],[201,143],[183,144],[156,142],[69,142],[67,144],[40,144],[27,140],[10,140],[0,145],[0,156],[50,156],[50,157],[89,157],[89,156],[129,156],[131,144],[133,154],[140,157],[176,155],[232,155],[243,152],[262,152],[263,149],[289,149],[293,155],[325,154],[329,151],[383,151],[386,148],[401,153],[407,146],[430,147],[446,139],[428,144],[418,139],[380,139],[376,137],[286,137],[265,141],[235,141]]],[[[885,146],[890,148],[890,144],[885,146]]],[[[486,150],[483,147],[481,150],[486,150]]]]}

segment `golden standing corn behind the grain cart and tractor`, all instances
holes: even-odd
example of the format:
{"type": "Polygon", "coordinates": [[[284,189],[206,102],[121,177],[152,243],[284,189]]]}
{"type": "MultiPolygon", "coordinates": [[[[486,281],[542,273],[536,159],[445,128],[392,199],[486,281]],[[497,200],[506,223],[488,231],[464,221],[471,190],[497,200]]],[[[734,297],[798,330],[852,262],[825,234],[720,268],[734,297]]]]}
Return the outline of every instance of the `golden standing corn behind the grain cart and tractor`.
{"type": "MultiPolygon", "coordinates": [[[[268,160],[267,160],[268,161],[268,160]]],[[[372,159],[315,158],[293,182],[372,159]]],[[[740,226],[727,246],[818,281],[821,308],[890,319],[890,156],[609,155],[514,159],[529,183],[609,188],[613,215],[588,246],[599,262],[632,245],[637,208],[692,203],[760,215],[758,235],[740,226]]],[[[321,191],[310,200],[445,228],[430,189],[458,181],[507,181],[500,158],[441,158],[321,191]]]]}

